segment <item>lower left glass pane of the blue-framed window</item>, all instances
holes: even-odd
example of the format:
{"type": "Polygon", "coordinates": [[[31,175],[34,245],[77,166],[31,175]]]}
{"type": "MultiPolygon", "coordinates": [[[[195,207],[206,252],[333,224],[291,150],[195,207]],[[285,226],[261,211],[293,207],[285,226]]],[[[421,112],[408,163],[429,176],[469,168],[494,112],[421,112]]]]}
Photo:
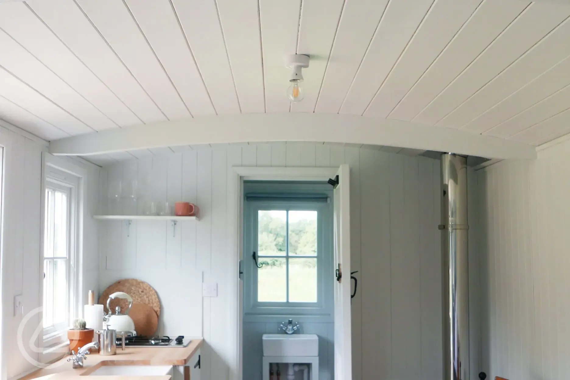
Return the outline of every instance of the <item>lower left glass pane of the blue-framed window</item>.
{"type": "Polygon", "coordinates": [[[280,258],[259,258],[258,302],[287,302],[287,262],[280,258]]]}

